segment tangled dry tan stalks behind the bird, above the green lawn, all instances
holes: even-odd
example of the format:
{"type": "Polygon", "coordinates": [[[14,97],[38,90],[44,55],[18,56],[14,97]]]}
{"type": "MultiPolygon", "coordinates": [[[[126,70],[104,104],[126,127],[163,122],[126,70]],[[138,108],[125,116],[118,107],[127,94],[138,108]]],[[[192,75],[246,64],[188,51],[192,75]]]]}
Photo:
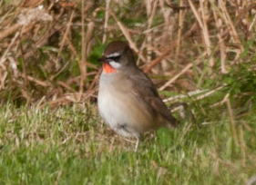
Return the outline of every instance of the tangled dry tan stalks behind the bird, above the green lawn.
{"type": "MultiPolygon", "coordinates": [[[[95,100],[102,44],[126,40],[159,90],[200,90],[255,36],[255,1],[0,1],[0,101],[95,100]],[[207,75],[205,74],[207,73],[207,75]]],[[[253,51],[248,51],[253,53],[253,51]]],[[[222,84],[220,84],[222,85],[222,84]]]]}

